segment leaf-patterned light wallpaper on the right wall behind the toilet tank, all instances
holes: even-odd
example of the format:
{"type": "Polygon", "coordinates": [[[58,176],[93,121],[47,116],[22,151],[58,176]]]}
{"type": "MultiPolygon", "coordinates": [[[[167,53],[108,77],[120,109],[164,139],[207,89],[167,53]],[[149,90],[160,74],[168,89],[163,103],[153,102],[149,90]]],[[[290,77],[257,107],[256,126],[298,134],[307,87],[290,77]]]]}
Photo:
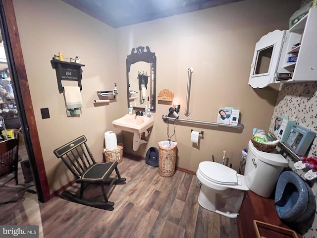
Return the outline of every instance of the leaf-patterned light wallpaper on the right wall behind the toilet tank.
{"type": "MultiPolygon", "coordinates": [[[[317,133],[317,82],[304,83],[282,83],[277,96],[277,102],[274,108],[269,130],[272,131],[276,117],[287,116],[290,120],[295,120],[303,127],[306,127],[317,133]]],[[[289,162],[290,170],[300,175],[313,189],[317,195],[317,182],[308,181],[304,175],[308,169],[295,170],[294,163],[296,159],[288,154],[283,154],[289,162]]],[[[315,137],[312,147],[309,150],[308,157],[317,156],[317,138],[315,137]]],[[[303,234],[303,238],[317,237],[317,211],[305,224],[300,224],[296,229],[303,234]]]]}

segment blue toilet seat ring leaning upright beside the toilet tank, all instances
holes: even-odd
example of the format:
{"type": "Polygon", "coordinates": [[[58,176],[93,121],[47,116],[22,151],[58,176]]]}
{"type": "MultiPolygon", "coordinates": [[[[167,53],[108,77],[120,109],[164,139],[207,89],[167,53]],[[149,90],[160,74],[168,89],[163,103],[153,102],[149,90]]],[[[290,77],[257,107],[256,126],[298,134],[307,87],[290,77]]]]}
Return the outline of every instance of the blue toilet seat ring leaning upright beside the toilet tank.
{"type": "Polygon", "coordinates": [[[292,171],[285,171],[279,176],[274,201],[277,215],[285,222],[305,222],[316,209],[311,187],[292,171]]]}

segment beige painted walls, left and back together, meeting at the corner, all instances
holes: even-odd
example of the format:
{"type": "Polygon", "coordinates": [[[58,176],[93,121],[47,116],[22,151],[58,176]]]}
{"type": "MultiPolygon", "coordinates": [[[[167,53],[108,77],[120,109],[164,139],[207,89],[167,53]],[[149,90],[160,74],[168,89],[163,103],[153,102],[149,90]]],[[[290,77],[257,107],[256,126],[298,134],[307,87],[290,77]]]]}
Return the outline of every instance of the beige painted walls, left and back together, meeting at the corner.
{"type": "MultiPolygon", "coordinates": [[[[127,113],[125,60],[131,49],[149,46],[157,56],[157,92],[171,90],[181,99],[184,116],[187,69],[194,68],[186,119],[216,121],[217,109],[230,106],[241,111],[243,131],[177,125],[177,166],[196,171],[199,162],[214,155],[220,162],[227,151],[229,163],[238,169],[241,150],[247,147],[254,127],[268,129],[276,90],[248,86],[255,43],[269,31],[287,29],[288,19],[298,9],[296,0],[243,1],[133,26],[112,29],[62,1],[14,0],[15,14],[26,65],[35,117],[49,179],[50,190],[60,188],[65,167],[53,149],[79,135],[86,135],[97,160],[102,159],[104,132],[111,121],[127,113]],[[79,55],[83,67],[83,109],[80,117],[67,118],[62,94],[50,60],[61,51],[64,57],[79,55]],[[94,106],[96,91],[111,90],[117,83],[117,100],[94,106]],[[42,119],[41,108],[50,109],[42,119]],[[190,141],[190,130],[204,130],[199,147],[190,141]]],[[[166,140],[167,124],[161,119],[169,105],[158,104],[149,144],[132,150],[132,134],[123,133],[125,151],[145,156],[150,146],[166,140]]],[[[173,134],[173,126],[169,126],[173,134]]]]}

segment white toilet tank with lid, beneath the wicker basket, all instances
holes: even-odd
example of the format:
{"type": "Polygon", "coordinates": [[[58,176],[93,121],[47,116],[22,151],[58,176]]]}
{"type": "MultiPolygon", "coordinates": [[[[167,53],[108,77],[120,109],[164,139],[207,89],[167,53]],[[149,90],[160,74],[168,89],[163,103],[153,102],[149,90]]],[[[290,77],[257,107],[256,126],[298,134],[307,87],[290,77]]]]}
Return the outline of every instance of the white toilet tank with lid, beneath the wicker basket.
{"type": "Polygon", "coordinates": [[[283,169],[288,167],[281,154],[257,150],[251,140],[244,171],[249,189],[262,197],[269,197],[283,169]]]}

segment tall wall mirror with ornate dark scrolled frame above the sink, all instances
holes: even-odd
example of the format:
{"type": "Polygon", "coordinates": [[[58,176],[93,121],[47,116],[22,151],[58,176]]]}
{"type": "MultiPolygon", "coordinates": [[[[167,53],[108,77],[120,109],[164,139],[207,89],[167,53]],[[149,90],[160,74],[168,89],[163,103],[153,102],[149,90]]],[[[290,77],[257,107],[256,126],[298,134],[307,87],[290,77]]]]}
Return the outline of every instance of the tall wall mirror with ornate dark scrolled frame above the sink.
{"type": "Polygon", "coordinates": [[[155,112],[156,107],[156,56],[149,47],[132,49],[127,56],[127,98],[135,111],[145,107],[155,112]]]}

